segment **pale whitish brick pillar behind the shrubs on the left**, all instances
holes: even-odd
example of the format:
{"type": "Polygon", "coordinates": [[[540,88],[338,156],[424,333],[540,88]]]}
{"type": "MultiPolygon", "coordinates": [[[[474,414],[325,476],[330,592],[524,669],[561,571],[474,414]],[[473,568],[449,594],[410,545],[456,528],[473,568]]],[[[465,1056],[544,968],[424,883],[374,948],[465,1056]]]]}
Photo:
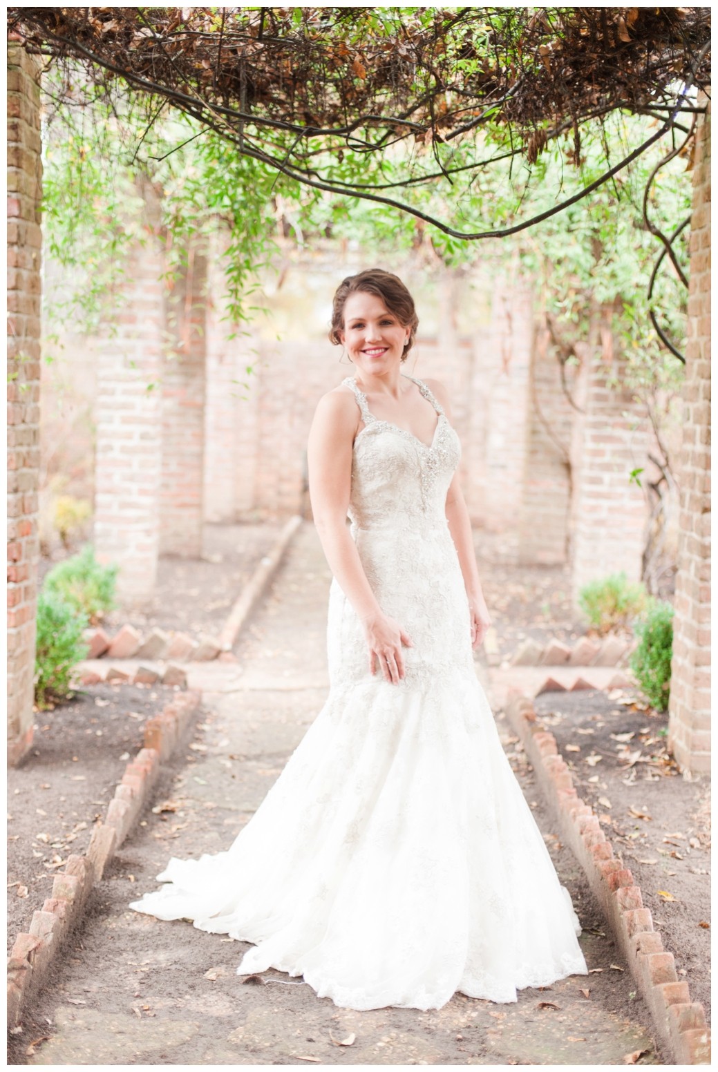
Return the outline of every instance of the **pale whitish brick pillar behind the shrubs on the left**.
{"type": "Polygon", "coordinates": [[[98,560],[117,562],[124,607],[147,606],[159,553],[163,270],[155,236],[157,205],[145,188],[148,237],[132,253],[127,302],[117,334],[98,359],[94,546],[98,560]],[[153,386],[152,386],[153,385],[153,386]]]}

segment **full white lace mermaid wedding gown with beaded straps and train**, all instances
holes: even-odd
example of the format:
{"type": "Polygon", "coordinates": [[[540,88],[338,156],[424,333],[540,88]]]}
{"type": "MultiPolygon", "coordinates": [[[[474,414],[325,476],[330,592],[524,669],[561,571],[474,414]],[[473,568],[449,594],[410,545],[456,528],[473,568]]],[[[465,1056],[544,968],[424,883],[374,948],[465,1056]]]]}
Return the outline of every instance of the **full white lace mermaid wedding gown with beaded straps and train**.
{"type": "Polygon", "coordinates": [[[568,890],[507,759],[471,651],[444,515],[458,437],[426,445],[376,419],[355,381],[351,532],[382,610],[406,629],[406,678],[368,672],[336,581],[328,698],[224,852],[172,858],[130,907],[253,942],[238,974],[303,976],[351,1009],[438,1009],[588,969],[568,890]]]}

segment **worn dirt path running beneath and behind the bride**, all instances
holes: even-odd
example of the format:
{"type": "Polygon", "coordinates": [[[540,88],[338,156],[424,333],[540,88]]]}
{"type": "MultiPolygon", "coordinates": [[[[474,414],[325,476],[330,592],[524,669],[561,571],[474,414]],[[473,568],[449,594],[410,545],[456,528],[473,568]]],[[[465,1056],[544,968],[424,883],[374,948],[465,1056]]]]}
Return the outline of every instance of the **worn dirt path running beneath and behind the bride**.
{"type": "Polygon", "coordinates": [[[639,1063],[665,1063],[583,875],[552,836],[532,772],[502,720],[510,758],[582,920],[582,948],[597,969],[588,977],[523,991],[514,1004],[455,995],[438,1011],[355,1012],[280,972],[247,985],[235,973],[244,943],[127,908],[157,885],[170,855],[230,846],[319,711],[326,695],[328,580],[316,534],[305,526],[236,649],[235,679],[224,675],[222,691],[204,694],[206,714],[185,765],[158,790],[166,810],[143,817],[146,825],[97,888],[74,947],[12,1041],[12,1063],[620,1064],[636,1051],[645,1052],[639,1063]],[[352,1034],[351,1045],[338,1044],[352,1034]],[[28,1056],[28,1045],[43,1036],[28,1056]]]}

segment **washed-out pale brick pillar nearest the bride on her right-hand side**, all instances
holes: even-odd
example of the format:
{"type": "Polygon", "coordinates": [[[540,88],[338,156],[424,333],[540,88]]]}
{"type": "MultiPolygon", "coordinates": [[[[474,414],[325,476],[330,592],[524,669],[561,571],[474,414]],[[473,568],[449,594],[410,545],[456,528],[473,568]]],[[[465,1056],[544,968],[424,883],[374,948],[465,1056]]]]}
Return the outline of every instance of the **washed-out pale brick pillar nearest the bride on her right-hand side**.
{"type": "MultiPolygon", "coordinates": [[[[474,393],[488,396],[484,508],[478,520],[494,532],[510,532],[514,544],[526,464],[532,336],[530,291],[519,280],[509,286],[498,277],[490,328],[482,340],[490,366],[474,366],[474,393]]],[[[515,553],[515,547],[511,550],[515,553]]]]}

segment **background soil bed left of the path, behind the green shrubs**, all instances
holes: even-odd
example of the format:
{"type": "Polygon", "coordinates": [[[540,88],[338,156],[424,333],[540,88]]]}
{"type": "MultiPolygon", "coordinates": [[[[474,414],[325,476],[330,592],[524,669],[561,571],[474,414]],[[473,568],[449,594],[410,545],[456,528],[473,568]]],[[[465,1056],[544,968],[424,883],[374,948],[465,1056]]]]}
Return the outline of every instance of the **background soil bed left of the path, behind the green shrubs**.
{"type": "MultiPolygon", "coordinates": [[[[260,560],[268,553],[281,531],[280,522],[263,524],[205,524],[200,559],[162,555],[151,604],[143,611],[114,610],[101,621],[112,636],[126,622],[141,632],[152,628],[167,632],[221,631],[232,605],[260,560]]],[[[40,579],[71,552],[41,559],[40,579]]],[[[72,552],[74,553],[74,551],[72,552]]]]}

